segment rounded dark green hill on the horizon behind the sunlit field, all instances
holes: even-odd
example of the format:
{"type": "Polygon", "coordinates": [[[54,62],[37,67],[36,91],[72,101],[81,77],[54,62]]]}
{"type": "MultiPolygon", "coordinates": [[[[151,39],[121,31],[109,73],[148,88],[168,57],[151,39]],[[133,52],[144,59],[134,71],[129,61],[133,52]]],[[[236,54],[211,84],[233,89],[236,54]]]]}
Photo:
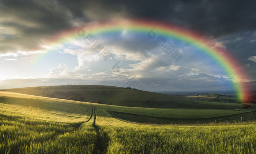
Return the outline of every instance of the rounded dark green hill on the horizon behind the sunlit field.
{"type": "MultiPolygon", "coordinates": [[[[49,96],[54,98],[68,99],[74,95],[83,102],[96,102],[104,104],[146,108],[198,108],[198,109],[221,109],[234,110],[244,107],[241,104],[229,103],[227,105],[218,102],[207,102],[191,98],[160,94],[156,92],[140,91],[114,86],[100,85],[67,85],[67,86],[44,86],[15,88],[5,91],[22,94],[49,96]]],[[[200,97],[202,99],[202,96],[200,97]]],[[[206,97],[207,98],[207,97],[206,97]]],[[[212,97],[213,98],[213,97],[212,97]]]]}

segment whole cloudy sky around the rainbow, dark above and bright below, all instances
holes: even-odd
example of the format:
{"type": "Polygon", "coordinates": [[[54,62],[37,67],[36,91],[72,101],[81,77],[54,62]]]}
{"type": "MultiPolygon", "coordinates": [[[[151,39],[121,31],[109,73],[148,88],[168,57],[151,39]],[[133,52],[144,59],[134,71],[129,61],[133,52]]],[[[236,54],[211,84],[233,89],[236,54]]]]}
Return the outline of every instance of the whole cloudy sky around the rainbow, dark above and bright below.
{"type": "Polygon", "coordinates": [[[216,61],[182,40],[165,38],[182,55],[178,62],[147,35],[126,29],[92,33],[111,53],[108,59],[84,38],[49,46],[67,29],[122,19],[160,21],[210,38],[231,52],[248,74],[245,82],[256,89],[255,8],[249,0],[0,0],[0,89],[98,84],[147,91],[233,90],[216,61]]]}

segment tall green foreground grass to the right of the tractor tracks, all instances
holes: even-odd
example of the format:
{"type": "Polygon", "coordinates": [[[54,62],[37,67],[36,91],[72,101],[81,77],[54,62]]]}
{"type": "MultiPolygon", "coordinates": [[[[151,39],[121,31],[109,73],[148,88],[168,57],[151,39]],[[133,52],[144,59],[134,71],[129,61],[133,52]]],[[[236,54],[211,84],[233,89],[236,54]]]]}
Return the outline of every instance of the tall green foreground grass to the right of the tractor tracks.
{"type": "Polygon", "coordinates": [[[109,127],[108,153],[255,153],[255,125],[109,127]]]}

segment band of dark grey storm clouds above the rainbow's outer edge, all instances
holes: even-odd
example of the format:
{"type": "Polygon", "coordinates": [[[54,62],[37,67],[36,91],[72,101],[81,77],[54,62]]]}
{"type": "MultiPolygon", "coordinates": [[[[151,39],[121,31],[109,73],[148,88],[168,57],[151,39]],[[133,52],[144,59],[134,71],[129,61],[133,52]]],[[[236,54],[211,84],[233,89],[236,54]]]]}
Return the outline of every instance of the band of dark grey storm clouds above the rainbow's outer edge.
{"type": "Polygon", "coordinates": [[[9,29],[1,29],[0,52],[14,51],[17,48],[30,51],[31,45],[26,42],[37,48],[38,40],[47,39],[47,36],[82,22],[123,17],[165,21],[214,37],[250,31],[256,27],[255,4],[253,1],[245,3],[219,0],[1,0],[0,25],[3,29],[9,29]]]}

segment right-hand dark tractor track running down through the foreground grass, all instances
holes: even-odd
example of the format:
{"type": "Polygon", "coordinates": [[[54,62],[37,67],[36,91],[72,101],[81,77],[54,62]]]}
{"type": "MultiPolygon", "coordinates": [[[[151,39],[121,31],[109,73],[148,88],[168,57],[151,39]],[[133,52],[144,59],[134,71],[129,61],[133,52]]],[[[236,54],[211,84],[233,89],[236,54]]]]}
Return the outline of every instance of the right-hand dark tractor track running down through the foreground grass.
{"type": "Polygon", "coordinates": [[[95,124],[96,122],[96,112],[94,108],[94,121],[93,121],[93,127],[97,133],[96,135],[96,142],[93,149],[93,154],[104,154],[106,153],[107,147],[108,147],[108,141],[109,137],[108,134],[101,130],[99,126],[95,124]]]}

